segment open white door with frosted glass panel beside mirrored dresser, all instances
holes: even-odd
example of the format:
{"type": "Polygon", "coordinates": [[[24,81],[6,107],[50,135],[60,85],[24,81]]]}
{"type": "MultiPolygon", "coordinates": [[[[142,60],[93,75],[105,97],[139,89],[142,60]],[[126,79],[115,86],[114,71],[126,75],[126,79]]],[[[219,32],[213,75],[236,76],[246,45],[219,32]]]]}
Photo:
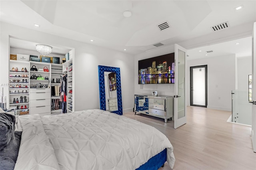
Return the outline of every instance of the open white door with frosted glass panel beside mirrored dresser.
{"type": "Polygon", "coordinates": [[[186,123],[186,56],[187,50],[180,45],[175,44],[174,128],[178,128],[186,123]]]}

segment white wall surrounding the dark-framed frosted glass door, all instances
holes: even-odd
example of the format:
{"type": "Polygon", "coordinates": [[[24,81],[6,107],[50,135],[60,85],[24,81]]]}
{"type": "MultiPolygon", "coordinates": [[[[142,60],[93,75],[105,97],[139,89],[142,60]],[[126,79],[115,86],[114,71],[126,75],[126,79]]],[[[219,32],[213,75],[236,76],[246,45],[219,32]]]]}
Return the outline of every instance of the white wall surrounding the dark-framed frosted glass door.
{"type": "Polygon", "coordinates": [[[235,55],[194,59],[187,61],[186,93],[190,105],[190,67],[207,65],[208,108],[232,111],[231,92],[235,89],[235,55]]]}

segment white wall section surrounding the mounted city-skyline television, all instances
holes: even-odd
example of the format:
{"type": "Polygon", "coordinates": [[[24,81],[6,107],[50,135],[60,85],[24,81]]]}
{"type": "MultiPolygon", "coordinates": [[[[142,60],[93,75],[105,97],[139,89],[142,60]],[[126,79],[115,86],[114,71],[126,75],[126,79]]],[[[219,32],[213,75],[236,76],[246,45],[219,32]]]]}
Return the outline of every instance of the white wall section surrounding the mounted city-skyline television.
{"type": "Polygon", "coordinates": [[[151,95],[152,91],[157,91],[159,96],[173,96],[174,84],[138,84],[138,61],[151,57],[156,57],[164,54],[174,53],[174,45],[158,48],[152,51],[147,51],[135,55],[134,58],[134,94],[136,95],[151,95]],[[168,88],[170,86],[170,89],[168,88]]]}

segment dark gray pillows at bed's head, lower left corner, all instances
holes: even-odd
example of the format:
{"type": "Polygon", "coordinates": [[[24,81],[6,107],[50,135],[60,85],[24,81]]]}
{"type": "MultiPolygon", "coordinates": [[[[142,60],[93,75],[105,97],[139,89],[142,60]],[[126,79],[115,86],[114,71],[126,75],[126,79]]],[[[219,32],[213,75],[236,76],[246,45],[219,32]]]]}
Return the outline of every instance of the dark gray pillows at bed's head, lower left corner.
{"type": "Polygon", "coordinates": [[[14,169],[22,132],[15,131],[15,116],[0,113],[0,170],[14,169]]]}

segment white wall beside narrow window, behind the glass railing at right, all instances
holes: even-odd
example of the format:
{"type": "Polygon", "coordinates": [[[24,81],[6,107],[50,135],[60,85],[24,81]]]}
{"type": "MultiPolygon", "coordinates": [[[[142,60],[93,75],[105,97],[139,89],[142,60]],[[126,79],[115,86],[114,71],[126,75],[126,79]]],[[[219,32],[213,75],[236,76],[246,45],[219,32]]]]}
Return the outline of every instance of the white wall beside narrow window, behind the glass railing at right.
{"type": "Polygon", "coordinates": [[[245,125],[252,125],[252,103],[248,102],[249,74],[252,74],[252,56],[237,58],[238,123],[245,125]]]}

